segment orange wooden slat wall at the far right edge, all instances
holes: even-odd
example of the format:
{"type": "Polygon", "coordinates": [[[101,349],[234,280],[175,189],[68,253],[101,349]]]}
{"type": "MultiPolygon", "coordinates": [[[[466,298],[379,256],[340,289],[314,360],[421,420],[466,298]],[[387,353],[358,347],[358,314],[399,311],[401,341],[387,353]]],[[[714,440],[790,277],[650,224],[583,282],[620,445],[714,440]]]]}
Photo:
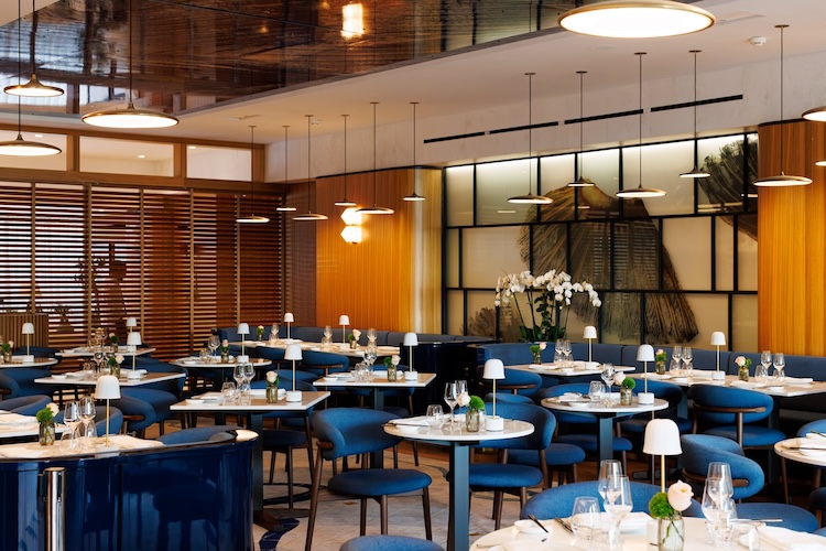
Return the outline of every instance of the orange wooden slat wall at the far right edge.
{"type": "Polygon", "coordinates": [[[759,129],[760,176],[778,174],[780,132],[786,174],[801,187],[763,187],[758,208],[758,342],[760,349],[826,355],[826,125],[786,122],[759,129]]]}

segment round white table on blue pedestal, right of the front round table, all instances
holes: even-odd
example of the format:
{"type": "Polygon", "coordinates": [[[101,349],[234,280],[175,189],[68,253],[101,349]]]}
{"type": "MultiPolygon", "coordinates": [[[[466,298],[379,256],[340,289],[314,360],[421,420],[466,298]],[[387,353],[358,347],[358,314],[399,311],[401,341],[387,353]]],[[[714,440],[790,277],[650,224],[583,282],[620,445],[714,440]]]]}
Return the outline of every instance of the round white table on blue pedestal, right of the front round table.
{"type": "Polygon", "coordinates": [[[599,461],[613,458],[613,421],[618,417],[637,415],[652,411],[664,410],[669,402],[655,398],[653,403],[640,403],[634,397],[633,401],[623,406],[619,401],[619,392],[615,392],[607,400],[590,400],[587,396],[567,397],[556,396],[544,398],[542,406],[552,411],[565,411],[582,415],[590,415],[597,422],[597,456],[599,461]],[[617,396],[613,396],[617,395],[617,396]]]}

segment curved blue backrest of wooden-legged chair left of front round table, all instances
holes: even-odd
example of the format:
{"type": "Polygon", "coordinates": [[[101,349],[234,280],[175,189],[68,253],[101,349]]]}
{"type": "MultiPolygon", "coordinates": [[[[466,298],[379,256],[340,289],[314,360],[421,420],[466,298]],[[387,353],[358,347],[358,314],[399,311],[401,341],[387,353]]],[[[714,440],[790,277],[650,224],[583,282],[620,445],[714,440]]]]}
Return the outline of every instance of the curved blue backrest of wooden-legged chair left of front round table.
{"type": "Polygon", "coordinates": [[[332,444],[330,449],[322,452],[325,460],[378,452],[401,441],[384,432],[383,424],[398,419],[398,415],[385,411],[329,408],[313,412],[312,419],[319,442],[332,444]]]}

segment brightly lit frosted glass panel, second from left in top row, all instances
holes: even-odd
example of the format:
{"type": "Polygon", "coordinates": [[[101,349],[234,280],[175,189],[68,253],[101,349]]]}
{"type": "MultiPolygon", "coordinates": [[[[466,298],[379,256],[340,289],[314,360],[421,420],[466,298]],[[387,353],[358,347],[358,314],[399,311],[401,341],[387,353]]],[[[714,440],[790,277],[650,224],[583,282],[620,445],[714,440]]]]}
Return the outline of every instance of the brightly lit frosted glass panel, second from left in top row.
{"type": "MultiPolygon", "coordinates": [[[[535,216],[532,205],[514,205],[508,197],[525,195],[528,188],[528,168],[531,166],[531,193],[536,193],[536,159],[521,159],[501,163],[479,164],[476,166],[476,223],[524,224],[535,216]]],[[[547,208],[547,207],[546,207],[547,208]]]]}

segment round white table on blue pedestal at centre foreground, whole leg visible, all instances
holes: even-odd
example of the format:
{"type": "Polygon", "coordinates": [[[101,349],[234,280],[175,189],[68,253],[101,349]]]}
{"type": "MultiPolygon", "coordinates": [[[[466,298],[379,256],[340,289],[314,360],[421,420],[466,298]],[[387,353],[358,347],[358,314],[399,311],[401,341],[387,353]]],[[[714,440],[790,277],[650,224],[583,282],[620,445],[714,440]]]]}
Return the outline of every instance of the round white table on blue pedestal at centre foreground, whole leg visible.
{"type": "Polygon", "coordinates": [[[501,431],[478,432],[464,429],[460,418],[456,423],[431,424],[426,418],[399,419],[384,425],[384,432],[406,440],[446,445],[449,447],[450,476],[447,551],[464,551],[470,547],[470,447],[493,440],[517,439],[534,431],[533,424],[513,419],[504,420],[501,431]],[[412,424],[412,423],[416,424],[412,424]],[[409,424],[410,423],[410,424],[409,424]]]}

